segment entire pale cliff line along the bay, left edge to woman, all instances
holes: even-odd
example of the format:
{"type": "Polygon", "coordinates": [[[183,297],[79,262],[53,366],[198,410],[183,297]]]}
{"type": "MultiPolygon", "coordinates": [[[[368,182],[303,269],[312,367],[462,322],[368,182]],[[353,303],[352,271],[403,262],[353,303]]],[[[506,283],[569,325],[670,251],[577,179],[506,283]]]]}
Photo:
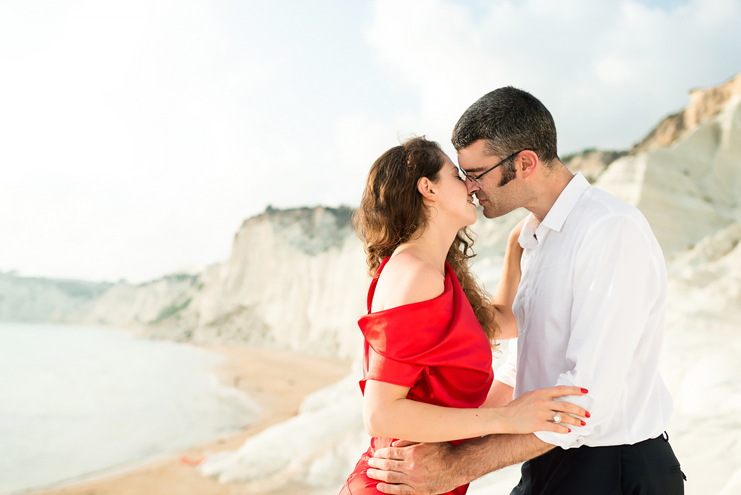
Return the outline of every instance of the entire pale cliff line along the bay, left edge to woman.
{"type": "Polygon", "coordinates": [[[368,276],[347,207],[247,219],[229,259],[140,285],[0,273],[0,321],[133,330],[203,344],[258,345],[355,359],[368,276]]]}

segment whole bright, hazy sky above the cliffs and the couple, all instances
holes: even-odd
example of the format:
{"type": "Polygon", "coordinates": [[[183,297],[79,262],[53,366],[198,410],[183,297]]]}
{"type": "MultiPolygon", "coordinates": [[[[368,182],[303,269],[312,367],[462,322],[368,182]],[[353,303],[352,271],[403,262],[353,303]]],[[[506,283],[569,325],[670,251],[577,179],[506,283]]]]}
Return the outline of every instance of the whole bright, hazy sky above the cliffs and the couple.
{"type": "MultiPolygon", "coordinates": [[[[0,271],[144,282],[514,85],[559,154],[624,150],[741,72],[739,0],[3,0],[0,271]]],[[[256,239],[259,242],[259,239],[256,239]]]]}

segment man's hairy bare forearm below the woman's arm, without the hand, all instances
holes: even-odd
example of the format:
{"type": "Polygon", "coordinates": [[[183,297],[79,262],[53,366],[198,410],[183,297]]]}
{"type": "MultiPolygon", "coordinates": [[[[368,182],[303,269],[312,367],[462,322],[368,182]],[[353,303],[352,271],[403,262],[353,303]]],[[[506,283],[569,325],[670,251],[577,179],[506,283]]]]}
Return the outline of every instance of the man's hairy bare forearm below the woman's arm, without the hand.
{"type": "Polygon", "coordinates": [[[554,445],[543,442],[532,433],[496,434],[456,445],[451,459],[454,471],[461,476],[459,484],[463,485],[492,471],[533,459],[552,448],[554,445]]]}

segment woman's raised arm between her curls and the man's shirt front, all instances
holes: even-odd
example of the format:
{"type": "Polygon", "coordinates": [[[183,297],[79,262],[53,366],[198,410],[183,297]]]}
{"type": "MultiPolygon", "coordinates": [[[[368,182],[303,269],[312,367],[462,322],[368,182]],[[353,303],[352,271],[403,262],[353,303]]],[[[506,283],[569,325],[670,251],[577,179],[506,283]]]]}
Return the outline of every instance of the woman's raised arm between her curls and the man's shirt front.
{"type": "Polygon", "coordinates": [[[519,278],[522,275],[519,267],[520,259],[522,259],[522,246],[519,245],[518,239],[524,223],[525,219],[522,219],[510,232],[505,250],[505,263],[502,266],[502,277],[496,286],[494,297],[491,298],[494,319],[499,325],[499,339],[514,339],[517,336],[517,321],[512,313],[512,303],[519,286],[519,278]]]}

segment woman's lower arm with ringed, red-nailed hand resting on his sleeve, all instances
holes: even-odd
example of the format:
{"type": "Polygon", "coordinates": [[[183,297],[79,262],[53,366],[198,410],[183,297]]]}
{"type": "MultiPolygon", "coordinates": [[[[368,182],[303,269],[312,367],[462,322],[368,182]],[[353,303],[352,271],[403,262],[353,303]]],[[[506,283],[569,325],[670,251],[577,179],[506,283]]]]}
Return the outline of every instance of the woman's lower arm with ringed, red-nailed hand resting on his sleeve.
{"type": "Polygon", "coordinates": [[[412,442],[445,442],[490,433],[568,433],[568,425],[582,425],[569,416],[586,416],[586,411],[554,397],[583,395],[576,387],[545,388],[525,395],[502,408],[445,408],[407,399],[408,387],[368,380],[365,382],[363,421],[371,436],[390,436],[412,442]],[[554,411],[561,422],[552,422],[554,411]]]}

